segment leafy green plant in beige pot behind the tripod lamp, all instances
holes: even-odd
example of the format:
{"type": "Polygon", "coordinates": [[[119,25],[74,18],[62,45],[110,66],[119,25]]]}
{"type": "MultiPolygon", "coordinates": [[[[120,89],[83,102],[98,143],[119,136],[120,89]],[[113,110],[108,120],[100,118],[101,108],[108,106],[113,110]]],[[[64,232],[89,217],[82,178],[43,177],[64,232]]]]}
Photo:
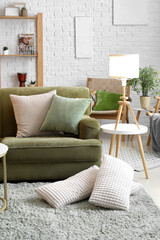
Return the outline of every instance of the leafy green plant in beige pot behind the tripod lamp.
{"type": "Polygon", "coordinates": [[[142,92],[142,96],[140,96],[141,107],[146,109],[150,105],[149,93],[151,95],[160,93],[158,71],[152,66],[140,68],[139,78],[131,79],[127,85],[131,86],[132,90],[137,92],[137,94],[142,92]]]}

